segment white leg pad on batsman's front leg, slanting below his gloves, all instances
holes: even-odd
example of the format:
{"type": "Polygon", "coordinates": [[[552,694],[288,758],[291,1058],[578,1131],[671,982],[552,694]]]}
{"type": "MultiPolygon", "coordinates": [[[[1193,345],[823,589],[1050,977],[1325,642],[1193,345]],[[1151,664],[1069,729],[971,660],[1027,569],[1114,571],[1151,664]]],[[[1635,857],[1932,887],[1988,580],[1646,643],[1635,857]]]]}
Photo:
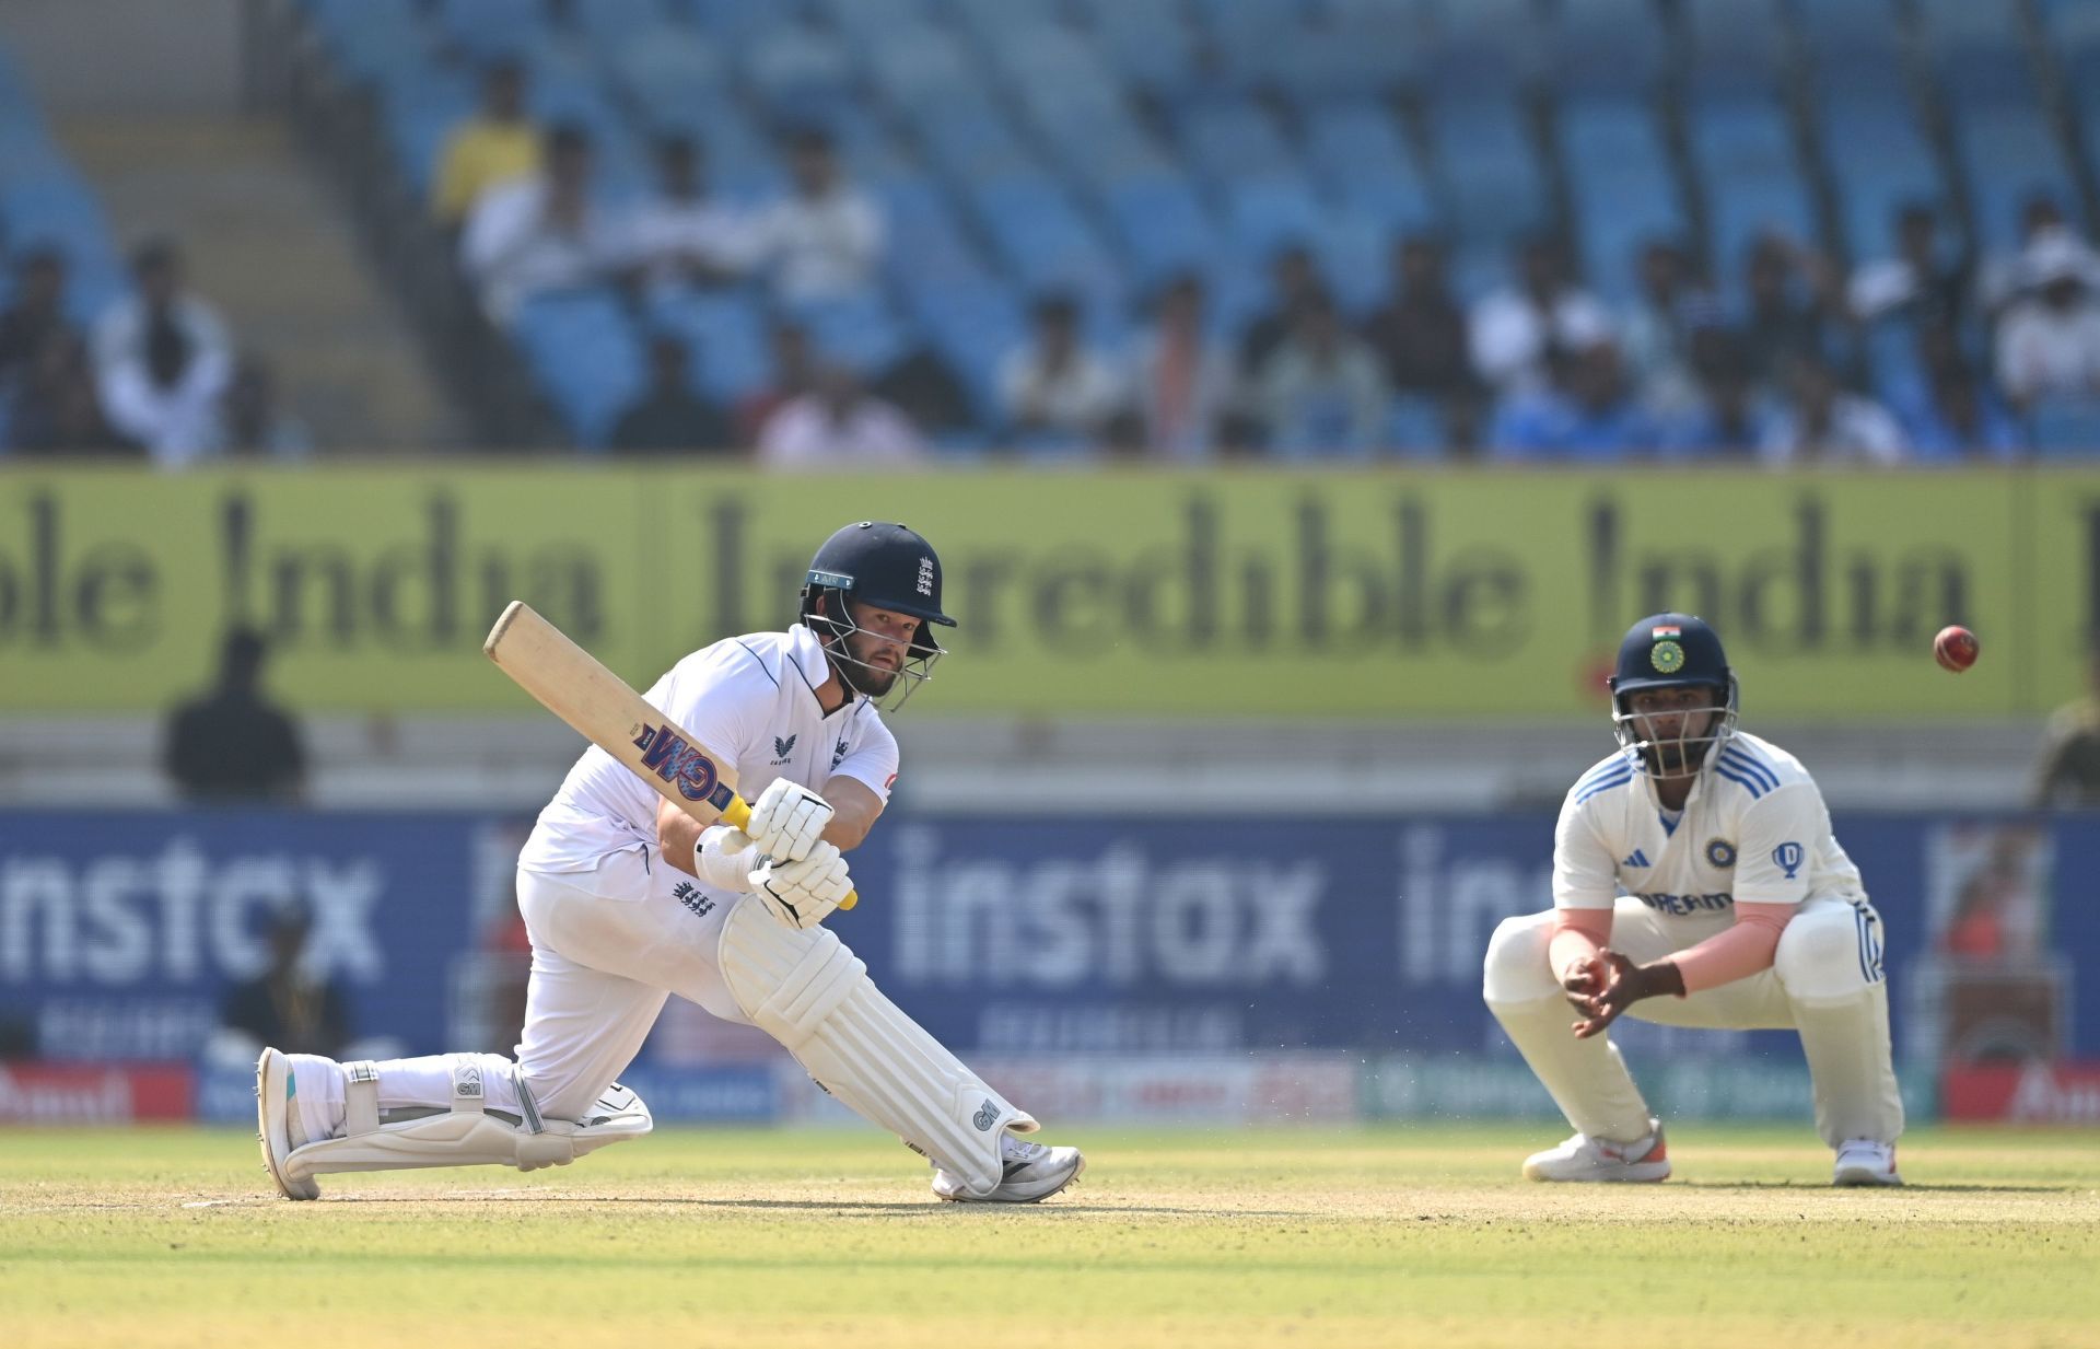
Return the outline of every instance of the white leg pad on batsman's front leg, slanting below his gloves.
{"type": "Polygon", "coordinates": [[[1004,1177],[1000,1135],[1035,1120],[985,1086],[867,977],[821,927],[796,931],[760,904],[722,925],[722,981],[754,1025],[779,1040],[817,1086],[987,1196],[1004,1177]]]}

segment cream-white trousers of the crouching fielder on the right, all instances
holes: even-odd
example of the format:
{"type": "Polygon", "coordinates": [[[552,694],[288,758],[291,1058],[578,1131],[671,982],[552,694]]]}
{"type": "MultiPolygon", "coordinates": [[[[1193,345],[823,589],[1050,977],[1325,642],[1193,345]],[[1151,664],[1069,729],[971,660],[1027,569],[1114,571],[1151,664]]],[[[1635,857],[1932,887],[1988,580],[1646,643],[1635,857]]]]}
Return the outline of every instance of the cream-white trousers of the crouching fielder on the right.
{"type": "MultiPolygon", "coordinates": [[[[1506,918],[1487,943],[1483,994],[1577,1130],[1632,1143],[1648,1133],[1648,1105],[1625,1072],[1611,1032],[1577,1040],[1579,1019],[1546,954],[1554,912],[1506,918]]],[[[1611,948],[1636,964],[1697,946],[1722,925],[1670,922],[1640,899],[1619,897],[1611,948]]],[[[1793,1030],[1814,1082],[1816,1130],[1894,1143],[1903,1097],[1888,1044],[1882,918],[1863,897],[1806,899],[1779,935],[1772,967],[1684,998],[1646,998],[1628,1017],[1705,1030],[1793,1030]]]]}

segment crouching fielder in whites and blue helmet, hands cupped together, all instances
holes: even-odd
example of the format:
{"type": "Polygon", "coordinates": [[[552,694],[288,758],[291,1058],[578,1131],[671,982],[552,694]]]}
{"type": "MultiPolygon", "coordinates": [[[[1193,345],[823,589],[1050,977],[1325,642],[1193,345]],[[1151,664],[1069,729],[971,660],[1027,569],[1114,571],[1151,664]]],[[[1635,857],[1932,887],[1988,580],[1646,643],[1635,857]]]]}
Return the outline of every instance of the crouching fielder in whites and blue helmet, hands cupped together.
{"type": "Polygon", "coordinates": [[[1621,750],[1560,807],[1554,908],[1487,946],[1487,1006],[1577,1130],[1525,1175],[1670,1175],[1663,1126],[1604,1034],[1630,1013],[1798,1032],[1833,1183],[1900,1185],[1882,918],[1814,780],[1737,731],[1737,681],[1699,618],[1634,624],[1611,693],[1621,750]]]}

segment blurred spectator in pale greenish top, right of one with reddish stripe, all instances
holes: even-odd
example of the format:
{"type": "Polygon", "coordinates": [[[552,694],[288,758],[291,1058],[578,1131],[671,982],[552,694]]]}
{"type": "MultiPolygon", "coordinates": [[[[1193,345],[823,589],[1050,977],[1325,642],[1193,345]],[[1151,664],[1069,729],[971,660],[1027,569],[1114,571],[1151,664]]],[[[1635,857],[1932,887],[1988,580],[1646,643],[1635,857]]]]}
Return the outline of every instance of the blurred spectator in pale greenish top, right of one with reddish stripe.
{"type": "Polygon", "coordinates": [[[1268,450],[1281,458],[1365,456],[1384,445],[1386,376],[1323,292],[1298,303],[1292,334],[1262,366],[1256,401],[1268,450]]]}

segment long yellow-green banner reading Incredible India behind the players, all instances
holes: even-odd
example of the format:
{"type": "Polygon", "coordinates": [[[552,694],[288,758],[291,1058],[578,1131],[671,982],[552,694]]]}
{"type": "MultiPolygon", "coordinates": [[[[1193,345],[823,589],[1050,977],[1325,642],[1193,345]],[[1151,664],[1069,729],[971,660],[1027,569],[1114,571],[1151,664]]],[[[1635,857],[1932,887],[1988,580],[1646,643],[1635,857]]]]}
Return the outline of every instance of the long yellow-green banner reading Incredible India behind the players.
{"type": "Polygon", "coordinates": [[[867,517],[934,542],[962,620],[914,714],[1583,712],[1625,626],[1682,607],[1758,714],[2010,717],[2075,696],[2100,632],[2083,471],[15,469],[0,708],[164,708],[246,622],[302,710],[523,710],[479,651],[512,597],[647,685],[792,620],[867,517]],[[1982,637],[1961,677],[1949,622],[1982,637]]]}

